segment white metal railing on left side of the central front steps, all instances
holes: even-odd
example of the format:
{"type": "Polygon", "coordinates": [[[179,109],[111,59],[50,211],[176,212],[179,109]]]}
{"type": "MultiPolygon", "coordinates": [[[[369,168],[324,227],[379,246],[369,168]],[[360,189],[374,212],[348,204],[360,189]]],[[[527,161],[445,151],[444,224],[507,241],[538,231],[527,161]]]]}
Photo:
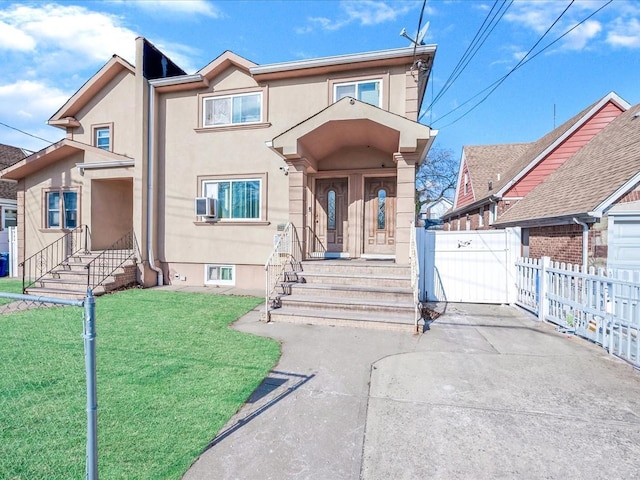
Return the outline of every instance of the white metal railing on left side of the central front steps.
{"type": "Polygon", "coordinates": [[[276,290],[286,281],[287,269],[297,271],[302,261],[302,245],[292,223],[286,225],[282,233],[277,235],[274,243],[273,251],[264,266],[266,272],[264,311],[267,322],[270,310],[278,306],[279,296],[276,290]]]}

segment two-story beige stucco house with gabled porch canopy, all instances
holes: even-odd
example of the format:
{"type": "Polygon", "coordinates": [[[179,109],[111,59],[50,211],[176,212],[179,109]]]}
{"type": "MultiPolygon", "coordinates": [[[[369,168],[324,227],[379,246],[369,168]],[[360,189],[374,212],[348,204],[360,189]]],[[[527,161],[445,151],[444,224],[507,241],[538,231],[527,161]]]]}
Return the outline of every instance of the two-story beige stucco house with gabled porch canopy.
{"type": "Polygon", "coordinates": [[[305,256],[408,263],[434,45],[270,65],[227,51],[188,75],[136,42],[136,65],[113,56],[51,117],[66,138],[2,172],[22,259],[80,225],[92,250],[133,230],[144,285],[262,288],[292,222],[305,256]]]}

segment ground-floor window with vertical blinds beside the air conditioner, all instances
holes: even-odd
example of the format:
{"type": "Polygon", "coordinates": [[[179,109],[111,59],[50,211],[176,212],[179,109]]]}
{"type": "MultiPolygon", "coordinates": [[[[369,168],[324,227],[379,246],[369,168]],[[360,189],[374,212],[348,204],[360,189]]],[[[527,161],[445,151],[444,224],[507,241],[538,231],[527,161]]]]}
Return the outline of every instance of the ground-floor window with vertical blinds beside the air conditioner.
{"type": "Polygon", "coordinates": [[[216,216],[230,220],[260,220],[262,180],[205,181],[202,193],[217,199],[216,216]]]}

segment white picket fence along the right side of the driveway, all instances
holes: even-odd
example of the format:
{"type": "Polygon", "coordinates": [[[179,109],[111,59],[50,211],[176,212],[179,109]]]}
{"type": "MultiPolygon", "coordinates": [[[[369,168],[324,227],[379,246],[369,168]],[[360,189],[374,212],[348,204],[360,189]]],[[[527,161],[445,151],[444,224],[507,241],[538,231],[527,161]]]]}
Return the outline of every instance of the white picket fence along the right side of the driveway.
{"type": "Polygon", "coordinates": [[[543,321],[640,367],[640,272],[520,258],[517,301],[543,321]]]}

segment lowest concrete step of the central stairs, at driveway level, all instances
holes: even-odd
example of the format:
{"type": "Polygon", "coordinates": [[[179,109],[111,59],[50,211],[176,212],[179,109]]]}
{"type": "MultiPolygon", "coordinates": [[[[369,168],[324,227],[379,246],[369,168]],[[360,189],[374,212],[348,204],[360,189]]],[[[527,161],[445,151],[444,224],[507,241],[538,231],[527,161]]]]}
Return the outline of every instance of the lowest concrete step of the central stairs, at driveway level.
{"type": "Polygon", "coordinates": [[[339,310],[308,310],[282,307],[271,310],[271,321],[307,325],[370,328],[414,332],[414,314],[378,314],[374,312],[349,312],[339,310]]]}

